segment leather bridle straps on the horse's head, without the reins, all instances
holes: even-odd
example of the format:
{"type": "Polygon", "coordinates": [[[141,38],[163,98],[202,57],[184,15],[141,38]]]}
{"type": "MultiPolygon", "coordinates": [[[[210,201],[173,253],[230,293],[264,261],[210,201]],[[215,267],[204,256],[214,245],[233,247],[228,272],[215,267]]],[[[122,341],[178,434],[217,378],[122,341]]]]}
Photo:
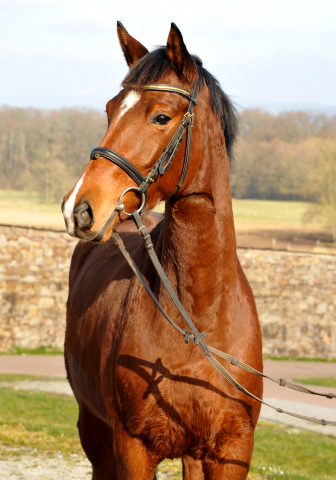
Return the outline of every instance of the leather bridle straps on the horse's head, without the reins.
{"type": "MultiPolygon", "coordinates": [[[[122,86],[132,87],[132,85],[127,85],[127,84],[123,84],[122,86]]],[[[138,87],[133,87],[133,88],[138,88],[138,87]]],[[[190,158],[191,135],[192,135],[192,129],[194,126],[194,115],[195,115],[193,111],[194,111],[195,105],[197,104],[196,97],[197,97],[197,91],[198,91],[198,79],[195,82],[194,91],[192,94],[189,93],[187,90],[184,90],[183,88],[175,87],[174,85],[164,85],[164,84],[145,85],[144,87],[141,87],[141,90],[177,93],[178,95],[182,95],[183,97],[186,97],[189,99],[189,107],[187,112],[184,114],[170,142],[168,143],[167,147],[164,149],[162,155],[156,160],[154,166],[152,167],[148,175],[144,177],[129,160],[127,160],[122,155],[120,155],[119,153],[109,148],[104,148],[104,147],[94,148],[91,152],[90,159],[95,160],[99,157],[104,157],[110,162],[118,165],[118,167],[122,168],[135,181],[138,187],[131,187],[131,189],[136,190],[138,193],[142,195],[142,202],[138,211],[139,212],[141,211],[141,214],[144,214],[145,207],[146,207],[148,187],[157,179],[159,174],[164,175],[166,173],[166,171],[170,167],[176,155],[176,152],[180,143],[182,142],[186,129],[188,128],[187,143],[186,143],[182,173],[175,190],[169,195],[169,197],[174,195],[183,186],[183,182],[187,175],[189,158],[190,158]]],[[[125,207],[122,204],[122,197],[128,190],[130,189],[125,190],[121,194],[119,199],[119,205],[117,206],[116,210],[124,210],[125,207]]],[[[127,213],[127,212],[124,212],[124,213],[127,213]]]]}

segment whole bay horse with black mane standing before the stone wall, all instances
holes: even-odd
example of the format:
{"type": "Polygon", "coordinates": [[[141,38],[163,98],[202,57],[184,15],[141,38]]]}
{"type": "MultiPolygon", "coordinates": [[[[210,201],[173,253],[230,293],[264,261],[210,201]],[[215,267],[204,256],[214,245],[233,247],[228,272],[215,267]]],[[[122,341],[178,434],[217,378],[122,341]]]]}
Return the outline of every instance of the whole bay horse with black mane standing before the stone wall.
{"type": "MultiPolygon", "coordinates": [[[[115,229],[162,308],[185,328],[127,212],[141,210],[134,172],[152,171],[193,102],[190,145],[183,138],[169,169],[148,182],[147,208],[165,199],[164,216],[148,212],[143,221],[208,344],[262,370],[254,297],[236,254],[229,183],[236,111],[175,24],[167,45],[152,52],[120,22],[117,31],[129,66],[124,88],[107,103],[98,153],[62,206],[68,233],[81,239],[71,262],[65,335],[80,440],[94,480],[152,480],[159,462],[179,457],[185,480],[243,480],[260,404],[220,376],[195,343],[184,343],[111,239],[115,229]],[[188,96],[194,90],[197,100],[188,96]],[[112,152],[115,161],[99,152],[112,152]],[[116,163],[120,158],[128,170],[116,163]],[[117,208],[120,196],[124,210],[117,208]]],[[[231,364],[227,370],[261,397],[261,377],[231,364]]]]}

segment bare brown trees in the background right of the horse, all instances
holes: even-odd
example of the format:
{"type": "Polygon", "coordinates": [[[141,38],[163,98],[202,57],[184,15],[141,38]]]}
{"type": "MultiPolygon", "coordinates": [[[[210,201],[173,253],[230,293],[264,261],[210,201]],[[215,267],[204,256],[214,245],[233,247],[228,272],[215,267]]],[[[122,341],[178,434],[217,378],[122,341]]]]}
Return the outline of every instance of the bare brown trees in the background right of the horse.
{"type": "Polygon", "coordinates": [[[234,198],[311,202],[306,220],[336,241],[336,115],[242,112],[231,186],[234,198]]]}

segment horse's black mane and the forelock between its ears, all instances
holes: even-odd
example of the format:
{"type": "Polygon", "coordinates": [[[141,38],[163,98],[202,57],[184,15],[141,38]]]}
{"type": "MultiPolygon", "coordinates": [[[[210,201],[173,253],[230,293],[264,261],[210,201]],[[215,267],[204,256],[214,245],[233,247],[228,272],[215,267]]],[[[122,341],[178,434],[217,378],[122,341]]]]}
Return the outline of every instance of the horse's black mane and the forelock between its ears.
{"type": "MultiPolygon", "coordinates": [[[[203,66],[202,60],[192,55],[198,69],[200,89],[207,85],[213,111],[219,115],[225,136],[226,151],[231,160],[232,149],[238,135],[238,114],[229,97],[223,92],[218,80],[203,66]]],[[[159,82],[165,72],[171,68],[166,48],[159,47],[142,57],[126,75],[124,82],[139,87],[159,82]]]]}

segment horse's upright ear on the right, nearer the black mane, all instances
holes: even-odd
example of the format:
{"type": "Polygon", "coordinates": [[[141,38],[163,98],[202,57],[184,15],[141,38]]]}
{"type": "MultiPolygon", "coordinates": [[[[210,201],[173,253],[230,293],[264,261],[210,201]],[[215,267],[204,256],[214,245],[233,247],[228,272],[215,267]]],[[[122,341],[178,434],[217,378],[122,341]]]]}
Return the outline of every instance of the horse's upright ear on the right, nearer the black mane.
{"type": "Polygon", "coordinates": [[[182,33],[175,23],[171,24],[166,52],[174,69],[190,81],[198,77],[197,66],[183,41],[182,33]]]}

